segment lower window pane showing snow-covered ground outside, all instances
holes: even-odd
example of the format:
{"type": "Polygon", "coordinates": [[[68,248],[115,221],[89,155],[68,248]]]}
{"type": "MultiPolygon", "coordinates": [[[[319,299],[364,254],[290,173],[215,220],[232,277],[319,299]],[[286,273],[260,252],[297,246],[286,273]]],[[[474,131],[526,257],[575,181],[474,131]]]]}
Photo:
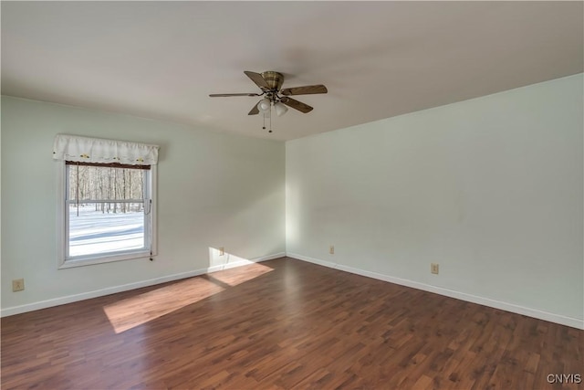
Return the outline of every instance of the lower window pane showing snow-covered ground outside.
{"type": "Polygon", "coordinates": [[[69,258],[146,248],[141,202],[84,203],[68,211],[69,258]]]}

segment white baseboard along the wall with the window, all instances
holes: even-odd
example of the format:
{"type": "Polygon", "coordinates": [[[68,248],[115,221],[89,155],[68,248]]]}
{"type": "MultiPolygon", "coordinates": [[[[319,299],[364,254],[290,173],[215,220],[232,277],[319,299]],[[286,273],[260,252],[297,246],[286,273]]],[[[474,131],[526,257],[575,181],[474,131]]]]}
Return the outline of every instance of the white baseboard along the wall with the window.
{"type": "Polygon", "coordinates": [[[206,273],[212,273],[223,269],[232,269],[235,267],[246,266],[248,264],[259,263],[261,261],[272,260],[274,258],[283,258],[286,253],[276,253],[274,255],[263,256],[261,258],[252,259],[240,259],[233,263],[222,264],[214,267],[209,267],[206,269],[194,269],[192,271],[181,272],[173,275],[163,276],[156,279],[141,280],[135,283],[123,284],[121,286],[108,287],[101,290],[93,290],[89,292],[83,292],[81,294],[68,295],[66,297],[54,298],[52,300],[41,300],[34,303],[27,303],[26,305],[13,306],[11,308],[2,309],[0,311],[0,317],[7,317],[10,315],[20,314],[27,311],[37,311],[40,309],[47,309],[53,306],[64,305],[67,303],[77,302],[78,300],[90,300],[92,298],[102,297],[104,295],[115,294],[116,292],[128,291],[141,289],[142,287],[149,287],[156,284],[166,283],[168,281],[193,278],[194,276],[203,275],[206,273]]]}

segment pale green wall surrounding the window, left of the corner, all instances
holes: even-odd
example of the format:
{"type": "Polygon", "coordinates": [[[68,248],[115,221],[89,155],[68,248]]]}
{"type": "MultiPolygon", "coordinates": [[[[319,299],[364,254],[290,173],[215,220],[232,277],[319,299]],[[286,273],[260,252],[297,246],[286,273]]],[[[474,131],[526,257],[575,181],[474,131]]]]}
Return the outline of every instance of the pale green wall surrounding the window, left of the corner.
{"type": "Polygon", "coordinates": [[[284,156],[284,142],[3,97],[2,309],[205,269],[210,247],[282,254],[284,156]],[[161,146],[155,261],[57,269],[58,132],[161,146]],[[12,292],[16,278],[26,290],[12,292]]]}

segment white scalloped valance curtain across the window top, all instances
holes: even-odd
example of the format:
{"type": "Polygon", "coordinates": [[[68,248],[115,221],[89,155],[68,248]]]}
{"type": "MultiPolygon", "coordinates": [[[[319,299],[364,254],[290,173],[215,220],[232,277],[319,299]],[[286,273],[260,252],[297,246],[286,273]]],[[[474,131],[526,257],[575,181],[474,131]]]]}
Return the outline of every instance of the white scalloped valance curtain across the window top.
{"type": "Polygon", "coordinates": [[[158,149],[158,145],[145,143],[57,134],[53,158],[85,163],[155,165],[158,163],[158,149]]]}

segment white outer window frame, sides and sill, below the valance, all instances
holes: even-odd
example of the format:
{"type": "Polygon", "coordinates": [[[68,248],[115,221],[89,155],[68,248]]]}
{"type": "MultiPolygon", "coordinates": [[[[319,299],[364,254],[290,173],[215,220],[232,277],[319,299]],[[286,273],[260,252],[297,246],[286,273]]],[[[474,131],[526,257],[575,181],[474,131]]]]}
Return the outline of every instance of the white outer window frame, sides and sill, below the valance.
{"type": "Polygon", "coordinates": [[[157,231],[156,231],[156,197],[157,197],[157,169],[156,164],[150,167],[149,180],[146,180],[146,199],[144,207],[150,206],[149,218],[145,218],[144,239],[150,243],[150,249],[135,249],[117,251],[105,254],[96,254],[68,258],[68,204],[67,204],[67,165],[65,161],[57,163],[57,268],[68,269],[73,267],[89,266],[94,264],[110,263],[112,261],[130,260],[136,258],[151,258],[157,255],[157,231]],[[150,205],[146,205],[146,202],[150,205]]]}

